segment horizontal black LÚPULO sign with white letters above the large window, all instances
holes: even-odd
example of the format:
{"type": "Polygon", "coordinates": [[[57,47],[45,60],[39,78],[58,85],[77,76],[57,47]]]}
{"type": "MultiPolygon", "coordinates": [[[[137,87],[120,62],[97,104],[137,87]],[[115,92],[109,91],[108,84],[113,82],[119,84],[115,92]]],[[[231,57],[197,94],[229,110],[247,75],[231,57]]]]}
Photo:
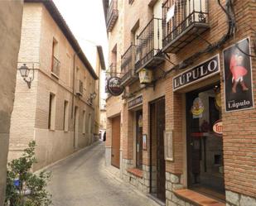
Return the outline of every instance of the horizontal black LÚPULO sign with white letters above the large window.
{"type": "Polygon", "coordinates": [[[172,79],[173,91],[181,89],[189,84],[196,83],[199,80],[208,78],[220,72],[220,56],[215,55],[210,60],[188,69],[185,72],[176,75],[172,79]]]}

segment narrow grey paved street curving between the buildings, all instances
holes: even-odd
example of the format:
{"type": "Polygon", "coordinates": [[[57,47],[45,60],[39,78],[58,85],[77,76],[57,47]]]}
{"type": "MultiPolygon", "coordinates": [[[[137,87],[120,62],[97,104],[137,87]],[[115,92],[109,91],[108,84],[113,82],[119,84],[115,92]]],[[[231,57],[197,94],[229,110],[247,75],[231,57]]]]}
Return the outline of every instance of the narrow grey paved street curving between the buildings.
{"type": "Polygon", "coordinates": [[[61,160],[52,172],[49,191],[55,206],[156,206],[152,199],[115,179],[104,166],[104,142],[61,160]]]}

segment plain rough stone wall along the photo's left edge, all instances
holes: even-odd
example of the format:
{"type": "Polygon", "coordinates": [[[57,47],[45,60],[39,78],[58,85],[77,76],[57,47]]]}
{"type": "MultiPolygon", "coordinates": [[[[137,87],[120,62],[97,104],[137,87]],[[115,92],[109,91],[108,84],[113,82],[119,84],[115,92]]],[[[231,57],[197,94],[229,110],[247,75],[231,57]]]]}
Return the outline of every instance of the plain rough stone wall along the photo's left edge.
{"type": "Polygon", "coordinates": [[[0,2],[0,205],[4,202],[9,132],[22,31],[23,1],[0,2]]]}

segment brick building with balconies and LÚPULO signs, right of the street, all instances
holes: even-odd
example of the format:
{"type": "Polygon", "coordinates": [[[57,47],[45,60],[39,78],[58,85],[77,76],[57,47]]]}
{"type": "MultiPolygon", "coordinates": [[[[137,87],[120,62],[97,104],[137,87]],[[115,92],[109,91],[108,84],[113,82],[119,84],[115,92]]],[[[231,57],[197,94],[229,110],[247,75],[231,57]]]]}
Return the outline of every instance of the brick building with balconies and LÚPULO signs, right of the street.
{"type": "Polygon", "coordinates": [[[256,205],[256,3],[103,3],[106,164],[162,204],[256,205]]]}

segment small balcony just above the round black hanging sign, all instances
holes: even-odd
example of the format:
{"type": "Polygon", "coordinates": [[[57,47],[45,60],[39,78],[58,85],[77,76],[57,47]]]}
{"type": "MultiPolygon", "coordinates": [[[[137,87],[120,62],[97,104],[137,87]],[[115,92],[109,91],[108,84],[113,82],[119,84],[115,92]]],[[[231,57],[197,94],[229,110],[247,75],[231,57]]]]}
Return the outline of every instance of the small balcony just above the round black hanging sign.
{"type": "Polygon", "coordinates": [[[136,49],[135,45],[129,46],[121,57],[121,79],[122,85],[132,84],[138,79],[138,74],[135,72],[136,49]]]}

